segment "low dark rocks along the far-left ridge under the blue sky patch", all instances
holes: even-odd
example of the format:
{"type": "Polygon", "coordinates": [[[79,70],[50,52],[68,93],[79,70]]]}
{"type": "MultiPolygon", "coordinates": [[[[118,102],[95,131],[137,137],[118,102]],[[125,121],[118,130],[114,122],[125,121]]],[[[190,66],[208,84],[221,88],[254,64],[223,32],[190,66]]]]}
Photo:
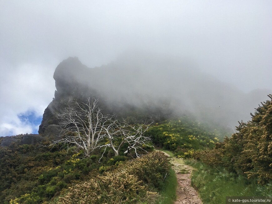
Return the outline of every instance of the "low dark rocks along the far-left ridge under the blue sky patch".
{"type": "Polygon", "coordinates": [[[15,145],[23,145],[23,144],[28,144],[28,145],[37,145],[40,142],[46,140],[47,138],[38,135],[38,134],[25,134],[25,135],[16,135],[16,136],[7,136],[3,137],[2,140],[0,141],[1,147],[9,147],[12,144],[15,145]]]}

